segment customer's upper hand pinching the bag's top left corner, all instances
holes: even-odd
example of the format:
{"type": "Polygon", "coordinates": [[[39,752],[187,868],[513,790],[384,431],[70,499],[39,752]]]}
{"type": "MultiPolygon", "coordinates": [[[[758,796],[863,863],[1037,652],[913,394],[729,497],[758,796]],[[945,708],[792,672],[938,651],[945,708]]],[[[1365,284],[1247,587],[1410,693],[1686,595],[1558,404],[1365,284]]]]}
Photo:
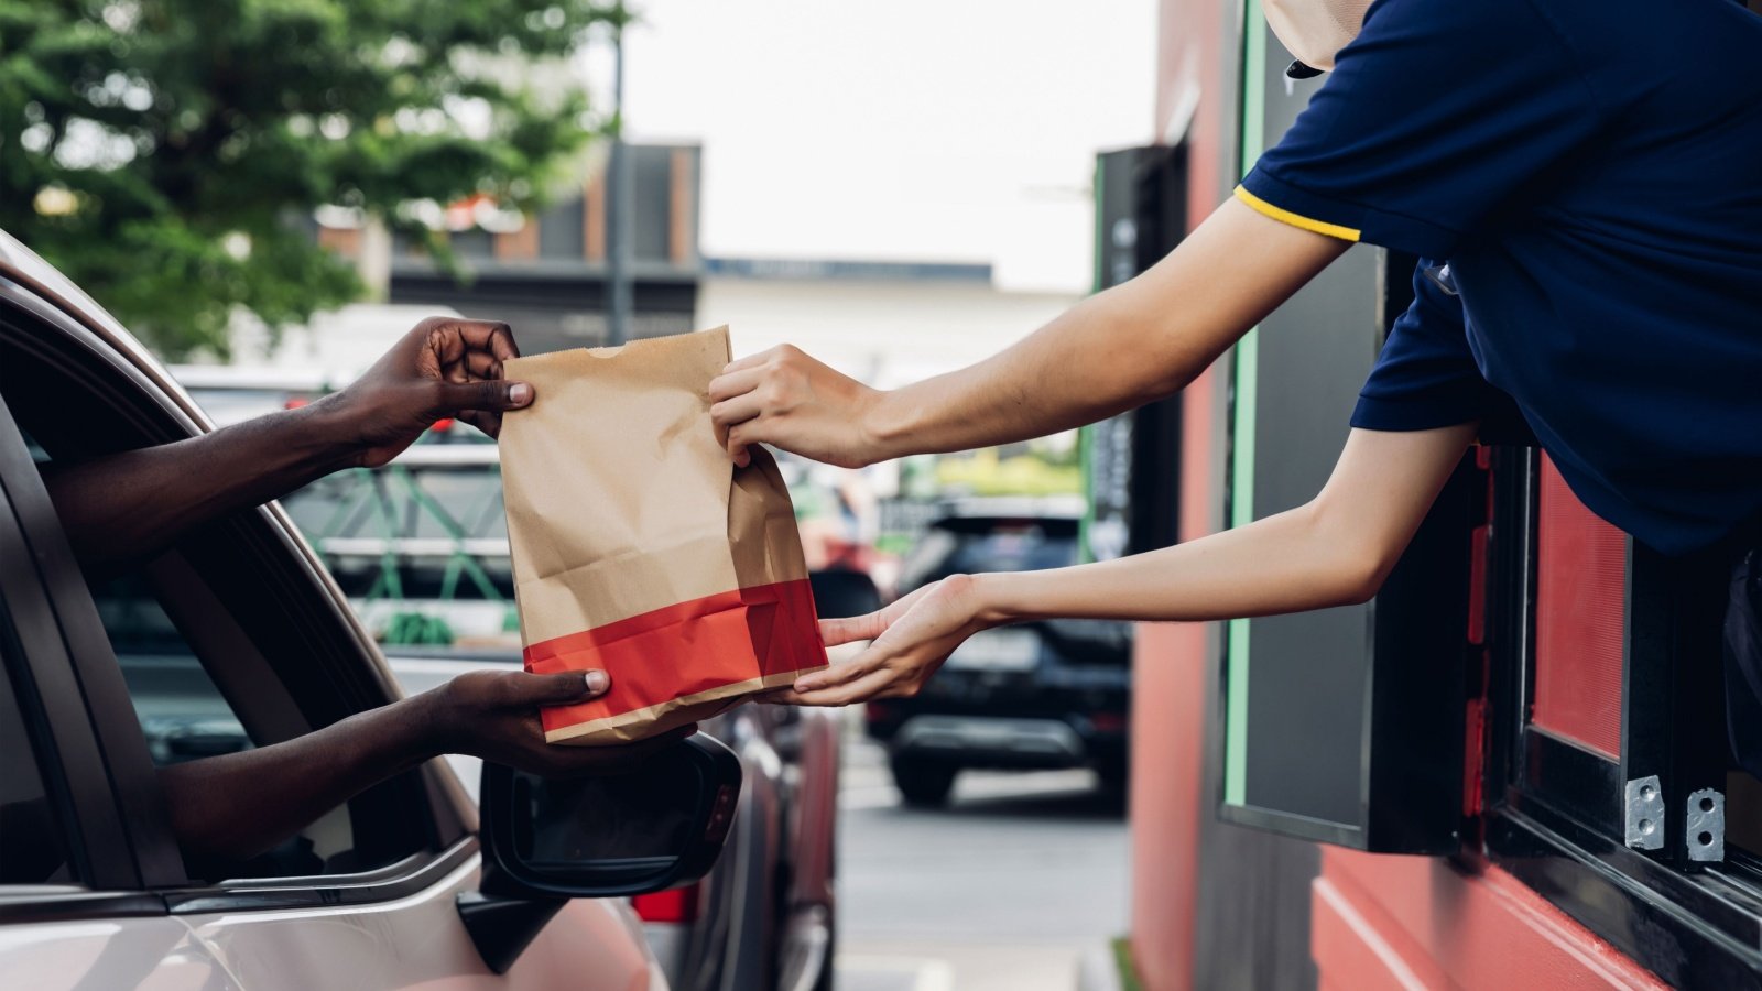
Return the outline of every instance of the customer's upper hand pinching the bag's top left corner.
{"type": "Polygon", "coordinates": [[[428,317],[328,402],[359,446],[359,462],[377,467],[435,420],[463,420],[497,436],[504,409],[532,402],[530,384],[502,379],[502,361],[518,356],[506,323],[428,317]]]}

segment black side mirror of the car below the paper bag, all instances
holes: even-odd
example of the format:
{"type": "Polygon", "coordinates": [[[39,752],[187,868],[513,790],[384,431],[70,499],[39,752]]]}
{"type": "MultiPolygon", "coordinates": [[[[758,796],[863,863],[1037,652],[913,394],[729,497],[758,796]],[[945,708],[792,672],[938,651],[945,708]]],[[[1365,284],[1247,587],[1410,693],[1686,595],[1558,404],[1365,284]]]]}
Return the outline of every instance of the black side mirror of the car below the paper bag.
{"type": "Polygon", "coordinates": [[[631,771],[546,779],[483,765],[483,883],[458,910],[504,973],[571,898],[627,898],[700,880],[728,839],[740,760],[694,734],[631,771]]]}

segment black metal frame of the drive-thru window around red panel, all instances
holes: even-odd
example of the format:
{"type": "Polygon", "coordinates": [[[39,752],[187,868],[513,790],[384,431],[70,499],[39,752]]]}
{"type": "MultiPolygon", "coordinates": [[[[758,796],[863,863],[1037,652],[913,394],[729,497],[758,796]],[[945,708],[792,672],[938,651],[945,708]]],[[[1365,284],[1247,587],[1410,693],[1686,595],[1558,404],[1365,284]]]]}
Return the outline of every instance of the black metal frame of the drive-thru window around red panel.
{"type": "Polygon", "coordinates": [[[1540,451],[1494,448],[1491,464],[1487,861],[1672,984],[1755,986],[1762,859],[1727,848],[1723,864],[1692,862],[1683,843],[1688,794],[1725,790],[1721,570],[1630,538],[1621,760],[1533,728],[1540,451]],[[1676,663],[1709,647],[1713,663],[1676,663]],[[1667,808],[1662,850],[1626,845],[1626,781],[1649,774],[1667,808]]]}

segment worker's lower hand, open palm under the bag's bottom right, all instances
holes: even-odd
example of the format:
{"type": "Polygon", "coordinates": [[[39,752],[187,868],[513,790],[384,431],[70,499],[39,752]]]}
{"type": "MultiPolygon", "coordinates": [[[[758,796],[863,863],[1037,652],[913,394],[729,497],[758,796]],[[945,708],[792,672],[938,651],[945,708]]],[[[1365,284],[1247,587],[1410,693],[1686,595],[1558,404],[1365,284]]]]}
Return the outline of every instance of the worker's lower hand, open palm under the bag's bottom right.
{"type": "Polygon", "coordinates": [[[967,637],[996,626],[983,617],[973,575],[925,585],[881,612],[821,619],[828,647],[872,640],[856,658],[796,679],[766,698],[788,705],[851,705],[870,698],[913,697],[967,637]]]}

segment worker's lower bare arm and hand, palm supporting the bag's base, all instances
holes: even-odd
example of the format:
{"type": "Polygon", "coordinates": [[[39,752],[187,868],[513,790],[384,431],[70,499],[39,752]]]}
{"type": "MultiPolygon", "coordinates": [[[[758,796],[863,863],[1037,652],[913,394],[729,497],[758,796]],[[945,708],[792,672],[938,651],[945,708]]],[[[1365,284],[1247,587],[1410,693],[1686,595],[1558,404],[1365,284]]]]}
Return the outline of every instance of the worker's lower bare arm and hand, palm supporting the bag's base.
{"type": "Polygon", "coordinates": [[[856,617],[821,621],[828,645],[874,640],[777,697],[848,705],[914,695],[967,637],[1029,619],[1200,621],[1369,600],[1450,478],[1475,425],[1353,430],[1309,504],[1165,550],[1077,568],[957,575],[856,617]]]}

